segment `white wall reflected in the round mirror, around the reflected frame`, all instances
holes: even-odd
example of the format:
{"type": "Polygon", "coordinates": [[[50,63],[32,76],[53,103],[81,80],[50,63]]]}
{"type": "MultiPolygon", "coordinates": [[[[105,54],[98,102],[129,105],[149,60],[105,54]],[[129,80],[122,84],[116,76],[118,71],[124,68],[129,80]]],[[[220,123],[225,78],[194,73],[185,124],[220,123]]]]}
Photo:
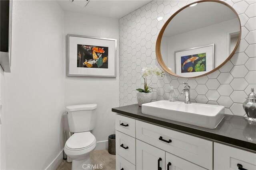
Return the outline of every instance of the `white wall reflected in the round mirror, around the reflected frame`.
{"type": "MultiPolygon", "coordinates": [[[[239,31],[239,21],[237,19],[217,23],[193,31],[168,37],[168,61],[164,57],[164,61],[168,66],[175,70],[174,53],[184,49],[201,47],[205,45],[215,44],[215,67],[220,65],[227,58],[227,39],[231,32],[239,31]],[[236,29],[238,28],[238,29],[236,29]],[[184,41],[186,40],[186,41],[184,41]]],[[[236,39],[237,42],[237,39],[236,39]]],[[[234,47],[233,47],[234,49],[234,47]]],[[[233,51],[232,49],[232,51],[233,51]]],[[[165,51],[167,49],[163,49],[165,51]]],[[[162,52],[162,49],[161,49],[162,52]]]]}

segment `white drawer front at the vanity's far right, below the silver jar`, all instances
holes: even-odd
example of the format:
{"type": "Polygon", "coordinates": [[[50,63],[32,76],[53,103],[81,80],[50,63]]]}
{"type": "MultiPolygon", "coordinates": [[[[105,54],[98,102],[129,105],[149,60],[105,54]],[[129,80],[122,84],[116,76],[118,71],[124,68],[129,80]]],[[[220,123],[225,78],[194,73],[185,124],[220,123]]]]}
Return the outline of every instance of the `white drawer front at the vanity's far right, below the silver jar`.
{"type": "Polygon", "coordinates": [[[256,170],[256,153],[214,142],[214,169],[238,170],[238,164],[247,170],[256,170]]]}

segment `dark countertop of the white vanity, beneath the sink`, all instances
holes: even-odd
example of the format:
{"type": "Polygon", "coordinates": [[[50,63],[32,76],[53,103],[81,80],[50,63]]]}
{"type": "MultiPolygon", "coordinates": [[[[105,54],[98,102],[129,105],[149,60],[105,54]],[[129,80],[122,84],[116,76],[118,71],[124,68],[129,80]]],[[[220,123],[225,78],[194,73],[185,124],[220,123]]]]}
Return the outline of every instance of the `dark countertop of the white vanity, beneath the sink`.
{"type": "Polygon", "coordinates": [[[142,114],[141,107],[138,104],[112,108],[112,111],[134,119],[256,152],[256,125],[248,124],[244,117],[241,116],[225,115],[224,119],[215,129],[207,129],[142,114]]]}

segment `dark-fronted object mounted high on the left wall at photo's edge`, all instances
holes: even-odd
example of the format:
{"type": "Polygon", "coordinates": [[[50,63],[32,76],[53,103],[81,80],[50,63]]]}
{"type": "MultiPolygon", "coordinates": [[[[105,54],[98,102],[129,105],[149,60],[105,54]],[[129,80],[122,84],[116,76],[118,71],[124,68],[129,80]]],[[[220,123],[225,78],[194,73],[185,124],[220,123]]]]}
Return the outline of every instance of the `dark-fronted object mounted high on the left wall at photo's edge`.
{"type": "Polygon", "coordinates": [[[11,72],[12,0],[0,0],[0,64],[11,72]]]}

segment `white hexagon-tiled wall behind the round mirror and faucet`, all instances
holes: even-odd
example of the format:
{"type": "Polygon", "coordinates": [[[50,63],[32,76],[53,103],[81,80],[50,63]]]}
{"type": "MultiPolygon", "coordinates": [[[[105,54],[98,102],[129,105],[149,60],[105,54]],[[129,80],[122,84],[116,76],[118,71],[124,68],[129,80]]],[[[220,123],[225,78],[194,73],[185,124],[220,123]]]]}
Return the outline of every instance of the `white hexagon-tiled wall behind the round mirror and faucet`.
{"type": "MultiPolygon", "coordinates": [[[[136,91],[142,87],[142,67],[157,65],[156,38],[164,22],[186,4],[194,0],[154,0],[119,20],[120,106],[136,104],[136,91]],[[158,21],[156,18],[163,17],[158,21]]],[[[170,85],[176,95],[191,86],[192,102],[225,106],[226,114],[244,116],[242,108],[250,88],[256,89],[256,0],[226,0],[239,14],[242,37],[235,55],[222,68],[200,78],[177,78],[165,73],[152,77],[154,100],[168,100],[170,85]]],[[[184,96],[178,96],[184,100],[184,96]]]]}

